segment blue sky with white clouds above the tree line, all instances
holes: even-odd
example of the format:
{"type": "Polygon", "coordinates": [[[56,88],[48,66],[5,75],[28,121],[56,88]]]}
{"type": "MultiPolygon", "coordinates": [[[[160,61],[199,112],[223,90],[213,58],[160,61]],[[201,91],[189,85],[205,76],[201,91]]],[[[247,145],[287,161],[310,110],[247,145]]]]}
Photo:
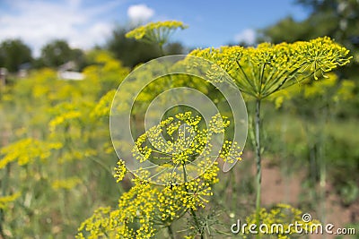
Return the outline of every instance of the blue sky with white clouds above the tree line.
{"type": "Polygon", "coordinates": [[[103,45],[117,26],[178,20],[188,25],[173,35],[186,47],[252,43],[256,30],[286,16],[303,20],[308,12],[293,0],[0,0],[0,41],[21,38],[39,56],[54,39],[71,47],[103,45]]]}

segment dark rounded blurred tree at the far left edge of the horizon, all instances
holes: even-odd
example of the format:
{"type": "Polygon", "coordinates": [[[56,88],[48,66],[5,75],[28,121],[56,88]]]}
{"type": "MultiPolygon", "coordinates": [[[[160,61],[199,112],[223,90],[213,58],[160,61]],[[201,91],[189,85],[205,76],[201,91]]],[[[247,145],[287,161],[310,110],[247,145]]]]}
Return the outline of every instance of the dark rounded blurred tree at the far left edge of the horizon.
{"type": "Polygon", "coordinates": [[[14,73],[19,70],[21,64],[31,61],[31,48],[21,39],[7,39],[1,43],[0,67],[5,67],[9,72],[14,73]]]}

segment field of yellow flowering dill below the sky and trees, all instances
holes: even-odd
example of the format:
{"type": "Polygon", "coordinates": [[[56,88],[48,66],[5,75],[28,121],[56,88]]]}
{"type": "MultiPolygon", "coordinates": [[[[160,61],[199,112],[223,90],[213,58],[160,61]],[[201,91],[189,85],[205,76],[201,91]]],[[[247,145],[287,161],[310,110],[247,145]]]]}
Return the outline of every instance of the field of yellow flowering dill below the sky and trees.
{"type": "MultiPolygon", "coordinates": [[[[127,38],[162,47],[179,28],[127,38]]],[[[357,85],[335,72],[353,60],[345,47],[196,49],[133,69],[86,57],[82,81],[44,67],[0,89],[0,238],[359,238],[357,85]],[[239,219],[285,232],[235,235],[239,219]]]]}

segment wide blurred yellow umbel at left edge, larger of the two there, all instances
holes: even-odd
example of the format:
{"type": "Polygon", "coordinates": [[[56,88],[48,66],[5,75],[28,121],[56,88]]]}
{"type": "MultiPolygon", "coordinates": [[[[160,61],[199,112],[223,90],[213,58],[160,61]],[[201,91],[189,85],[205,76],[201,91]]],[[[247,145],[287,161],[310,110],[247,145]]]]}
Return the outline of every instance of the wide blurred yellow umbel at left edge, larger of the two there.
{"type": "Polygon", "coordinates": [[[60,149],[61,143],[45,142],[36,139],[23,139],[0,149],[0,169],[7,164],[16,161],[19,166],[32,163],[35,159],[46,160],[51,156],[53,149],[60,149]]]}

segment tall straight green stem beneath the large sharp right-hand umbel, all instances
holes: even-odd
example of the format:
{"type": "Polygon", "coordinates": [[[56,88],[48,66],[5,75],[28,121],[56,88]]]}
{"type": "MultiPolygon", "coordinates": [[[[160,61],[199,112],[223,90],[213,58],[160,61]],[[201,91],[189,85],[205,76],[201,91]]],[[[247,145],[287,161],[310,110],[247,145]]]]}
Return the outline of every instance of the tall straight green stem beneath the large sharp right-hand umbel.
{"type": "MultiPolygon", "coordinates": [[[[260,185],[262,183],[262,166],[261,166],[261,153],[260,153],[260,98],[256,100],[256,116],[255,116],[255,131],[256,131],[256,163],[257,163],[257,198],[256,198],[256,221],[259,226],[260,218],[260,185]]],[[[256,235],[260,238],[260,235],[256,235]]]]}

